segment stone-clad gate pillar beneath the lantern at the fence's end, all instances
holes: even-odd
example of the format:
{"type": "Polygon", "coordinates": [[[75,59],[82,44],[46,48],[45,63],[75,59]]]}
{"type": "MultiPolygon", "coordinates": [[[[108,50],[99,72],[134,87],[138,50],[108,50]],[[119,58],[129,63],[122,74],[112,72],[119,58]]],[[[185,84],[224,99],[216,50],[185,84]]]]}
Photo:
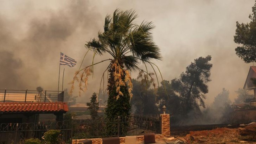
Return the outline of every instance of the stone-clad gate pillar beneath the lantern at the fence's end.
{"type": "Polygon", "coordinates": [[[163,136],[170,136],[170,114],[161,115],[161,130],[163,136]]]}

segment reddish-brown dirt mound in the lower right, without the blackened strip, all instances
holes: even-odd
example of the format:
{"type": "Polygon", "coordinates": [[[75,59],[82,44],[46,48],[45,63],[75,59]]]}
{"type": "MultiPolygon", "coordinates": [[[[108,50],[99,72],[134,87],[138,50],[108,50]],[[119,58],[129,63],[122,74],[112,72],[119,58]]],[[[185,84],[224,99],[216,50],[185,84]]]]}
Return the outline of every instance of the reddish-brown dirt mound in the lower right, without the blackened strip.
{"type": "Polygon", "coordinates": [[[217,128],[214,130],[190,131],[186,136],[175,137],[188,144],[256,144],[256,125],[248,125],[237,129],[217,128]]]}

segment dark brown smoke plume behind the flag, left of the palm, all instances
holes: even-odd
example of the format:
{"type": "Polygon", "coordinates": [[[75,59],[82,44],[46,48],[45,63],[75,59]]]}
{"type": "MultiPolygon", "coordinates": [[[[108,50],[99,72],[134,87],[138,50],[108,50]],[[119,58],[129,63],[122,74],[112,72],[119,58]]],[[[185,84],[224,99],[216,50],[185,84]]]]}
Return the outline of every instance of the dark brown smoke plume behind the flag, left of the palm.
{"type": "MultiPolygon", "coordinates": [[[[25,20],[0,17],[0,89],[35,90],[40,85],[47,90],[57,90],[60,52],[75,58],[78,66],[81,64],[85,40],[97,34],[98,20],[103,18],[85,1],[68,2],[60,9],[49,10],[22,11],[18,17],[25,20]],[[23,14],[27,11],[34,13],[33,16],[26,18],[23,14]],[[25,30],[16,31],[17,22],[25,30]]],[[[78,66],[62,66],[62,72],[66,68],[64,88],[69,88],[68,82],[78,66]]]]}

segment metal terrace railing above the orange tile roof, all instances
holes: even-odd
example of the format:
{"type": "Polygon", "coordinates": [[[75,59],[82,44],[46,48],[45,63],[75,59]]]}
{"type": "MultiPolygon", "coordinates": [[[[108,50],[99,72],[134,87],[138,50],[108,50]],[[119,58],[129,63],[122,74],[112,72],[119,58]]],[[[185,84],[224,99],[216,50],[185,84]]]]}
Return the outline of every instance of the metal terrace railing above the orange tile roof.
{"type": "Polygon", "coordinates": [[[0,90],[0,102],[63,102],[64,91],[0,90]]]}

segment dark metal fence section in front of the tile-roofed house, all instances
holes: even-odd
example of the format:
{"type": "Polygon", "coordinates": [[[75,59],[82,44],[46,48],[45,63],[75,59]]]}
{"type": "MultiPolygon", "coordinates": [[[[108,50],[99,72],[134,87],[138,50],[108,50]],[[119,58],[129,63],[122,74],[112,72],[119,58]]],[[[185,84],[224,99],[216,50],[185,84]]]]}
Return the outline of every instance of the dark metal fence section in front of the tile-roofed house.
{"type": "Polygon", "coordinates": [[[42,140],[47,130],[60,130],[64,142],[71,141],[72,129],[69,120],[49,123],[18,123],[0,124],[0,144],[20,144],[25,139],[38,138],[42,140]]]}

